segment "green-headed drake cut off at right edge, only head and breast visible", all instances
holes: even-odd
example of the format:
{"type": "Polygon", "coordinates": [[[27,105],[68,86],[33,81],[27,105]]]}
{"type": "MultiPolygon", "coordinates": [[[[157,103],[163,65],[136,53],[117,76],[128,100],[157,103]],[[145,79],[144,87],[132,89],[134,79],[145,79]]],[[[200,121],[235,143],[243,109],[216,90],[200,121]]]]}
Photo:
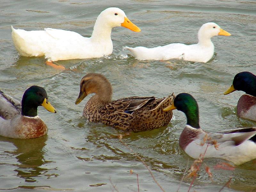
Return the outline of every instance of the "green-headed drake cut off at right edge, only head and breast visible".
{"type": "Polygon", "coordinates": [[[256,76],[248,71],[237,73],[233,84],[224,95],[236,90],[246,93],[238,100],[237,115],[256,121],[256,76]]]}

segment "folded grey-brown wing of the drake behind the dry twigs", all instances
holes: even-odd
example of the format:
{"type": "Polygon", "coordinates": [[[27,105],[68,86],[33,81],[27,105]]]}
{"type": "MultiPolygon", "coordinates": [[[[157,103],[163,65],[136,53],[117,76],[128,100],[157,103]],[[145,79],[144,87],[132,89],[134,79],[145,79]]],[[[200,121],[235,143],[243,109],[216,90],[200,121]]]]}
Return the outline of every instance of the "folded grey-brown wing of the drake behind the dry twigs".
{"type": "Polygon", "coordinates": [[[235,145],[239,145],[246,140],[253,139],[255,134],[256,127],[224,130],[217,133],[209,134],[210,140],[208,140],[208,143],[211,143],[212,140],[216,140],[218,143],[225,141],[234,141],[235,145]]]}

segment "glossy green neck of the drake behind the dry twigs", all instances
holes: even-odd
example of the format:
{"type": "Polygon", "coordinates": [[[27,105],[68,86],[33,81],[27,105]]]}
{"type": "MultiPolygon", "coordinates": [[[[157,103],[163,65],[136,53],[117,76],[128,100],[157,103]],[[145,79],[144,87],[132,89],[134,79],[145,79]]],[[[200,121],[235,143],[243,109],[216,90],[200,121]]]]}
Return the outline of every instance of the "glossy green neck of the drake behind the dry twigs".
{"type": "Polygon", "coordinates": [[[198,107],[189,106],[188,110],[185,111],[185,114],[187,116],[187,125],[190,125],[196,129],[200,129],[198,107]]]}

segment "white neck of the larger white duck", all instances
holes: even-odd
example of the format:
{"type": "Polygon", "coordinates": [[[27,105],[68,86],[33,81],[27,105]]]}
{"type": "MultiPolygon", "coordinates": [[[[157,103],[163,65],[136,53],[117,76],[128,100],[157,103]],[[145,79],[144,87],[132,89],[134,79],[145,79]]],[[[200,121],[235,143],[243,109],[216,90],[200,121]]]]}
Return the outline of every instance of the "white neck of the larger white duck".
{"type": "Polygon", "coordinates": [[[111,31],[112,27],[104,22],[102,18],[98,18],[95,21],[91,39],[92,41],[111,40],[111,31]]]}

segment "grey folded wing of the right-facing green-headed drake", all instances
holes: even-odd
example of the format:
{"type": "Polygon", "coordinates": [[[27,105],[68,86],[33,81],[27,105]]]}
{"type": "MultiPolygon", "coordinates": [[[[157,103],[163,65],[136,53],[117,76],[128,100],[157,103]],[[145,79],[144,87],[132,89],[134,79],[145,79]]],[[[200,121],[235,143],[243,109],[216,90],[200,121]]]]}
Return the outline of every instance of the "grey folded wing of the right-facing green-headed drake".
{"type": "Polygon", "coordinates": [[[4,94],[0,90],[0,116],[3,119],[11,119],[16,114],[21,113],[20,101],[4,94]]]}

